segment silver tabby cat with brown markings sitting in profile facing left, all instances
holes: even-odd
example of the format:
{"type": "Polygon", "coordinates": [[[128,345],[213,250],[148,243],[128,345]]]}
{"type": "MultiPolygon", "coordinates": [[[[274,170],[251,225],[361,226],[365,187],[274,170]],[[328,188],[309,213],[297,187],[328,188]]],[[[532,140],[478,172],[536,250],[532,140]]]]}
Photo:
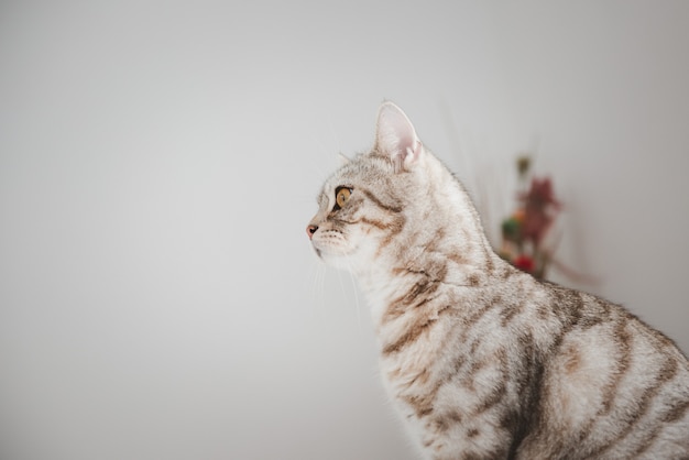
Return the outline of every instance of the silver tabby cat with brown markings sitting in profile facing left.
{"type": "Polygon", "coordinates": [[[424,459],[689,459],[689,363],[623,307],[491,248],[394,103],[306,231],[362,286],[384,386],[424,459]]]}

